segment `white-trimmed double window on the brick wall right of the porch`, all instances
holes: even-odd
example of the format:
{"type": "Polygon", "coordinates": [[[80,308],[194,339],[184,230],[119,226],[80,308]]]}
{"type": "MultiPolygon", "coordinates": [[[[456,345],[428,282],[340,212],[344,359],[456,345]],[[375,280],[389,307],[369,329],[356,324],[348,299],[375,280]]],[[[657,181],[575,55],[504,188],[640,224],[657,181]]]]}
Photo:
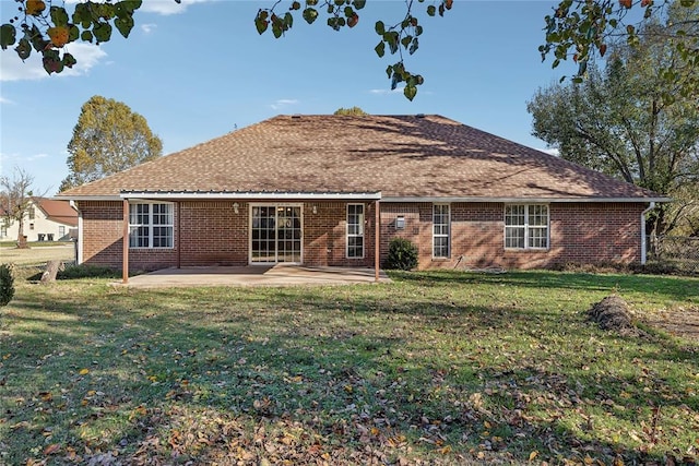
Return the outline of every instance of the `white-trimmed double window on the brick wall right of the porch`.
{"type": "Polygon", "coordinates": [[[506,205],[505,248],[548,249],[548,205],[506,205]]]}

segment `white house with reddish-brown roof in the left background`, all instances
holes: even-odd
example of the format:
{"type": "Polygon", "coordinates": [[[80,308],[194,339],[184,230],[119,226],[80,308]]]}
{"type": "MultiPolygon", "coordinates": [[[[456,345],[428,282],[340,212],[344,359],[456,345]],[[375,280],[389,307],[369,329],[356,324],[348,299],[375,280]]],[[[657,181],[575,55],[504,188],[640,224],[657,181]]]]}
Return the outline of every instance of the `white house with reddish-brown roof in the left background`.
{"type": "MultiPolygon", "coordinates": [[[[16,240],[20,225],[5,225],[0,220],[0,240],[16,240]]],[[[27,241],[68,241],[78,230],[78,212],[68,201],[33,198],[24,216],[24,235],[27,241]]]]}

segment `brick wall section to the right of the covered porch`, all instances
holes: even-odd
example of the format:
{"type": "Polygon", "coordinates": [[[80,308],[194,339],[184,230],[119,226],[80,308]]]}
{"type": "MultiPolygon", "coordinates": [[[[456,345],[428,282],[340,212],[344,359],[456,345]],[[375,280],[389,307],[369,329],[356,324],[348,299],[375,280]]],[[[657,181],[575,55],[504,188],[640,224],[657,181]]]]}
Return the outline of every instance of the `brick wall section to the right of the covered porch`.
{"type": "Polygon", "coordinates": [[[631,263],[640,260],[640,215],[643,204],[558,203],[549,205],[550,249],[506,250],[501,203],[451,204],[451,256],[433,259],[431,204],[381,205],[381,258],[393,237],[418,246],[419,268],[499,265],[534,268],[568,262],[631,263]],[[394,228],[405,217],[405,229],[394,228]]]}

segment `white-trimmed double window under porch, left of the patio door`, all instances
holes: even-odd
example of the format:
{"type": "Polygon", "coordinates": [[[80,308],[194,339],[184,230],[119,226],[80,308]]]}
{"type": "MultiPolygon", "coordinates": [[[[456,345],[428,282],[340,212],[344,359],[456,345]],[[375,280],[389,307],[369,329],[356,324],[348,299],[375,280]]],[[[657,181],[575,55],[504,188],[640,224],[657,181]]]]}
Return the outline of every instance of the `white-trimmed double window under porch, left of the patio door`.
{"type": "Polygon", "coordinates": [[[129,247],[173,248],[174,217],[173,204],[129,204],[129,247]]]}

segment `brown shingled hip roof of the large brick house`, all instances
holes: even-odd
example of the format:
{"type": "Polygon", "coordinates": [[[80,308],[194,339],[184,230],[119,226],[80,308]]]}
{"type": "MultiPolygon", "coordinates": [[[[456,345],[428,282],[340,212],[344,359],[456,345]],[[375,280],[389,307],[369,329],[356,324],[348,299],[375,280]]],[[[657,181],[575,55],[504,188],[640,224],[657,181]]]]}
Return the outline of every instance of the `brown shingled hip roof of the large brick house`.
{"type": "Polygon", "coordinates": [[[430,116],[277,116],[59,194],[367,193],[382,199],[662,200],[430,116]]]}

